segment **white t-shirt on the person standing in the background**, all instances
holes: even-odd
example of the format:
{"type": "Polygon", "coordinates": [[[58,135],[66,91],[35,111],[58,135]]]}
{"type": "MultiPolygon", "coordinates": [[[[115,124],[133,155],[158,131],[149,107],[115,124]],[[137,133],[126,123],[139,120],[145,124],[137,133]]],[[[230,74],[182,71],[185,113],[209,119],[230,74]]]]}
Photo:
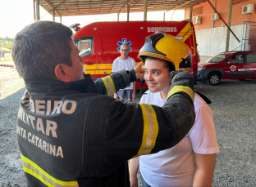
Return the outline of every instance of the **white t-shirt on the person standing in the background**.
{"type": "MultiPolygon", "coordinates": [[[[130,58],[128,56],[128,59],[121,60],[120,57],[117,57],[117,59],[114,60],[114,62],[113,62],[112,72],[117,72],[117,71],[120,71],[121,69],[126,69],[126,71],[127,70],[130,71],[131,69],[134,69],[135,67],[136,67],[136,63],[133,58],[130,58]]],[[[130,82],[130,87],[126,87],[125,89],[133,90],[133,82],[130,82]]],[[[120,90],[123,90],[123,89],[120,89],[120,90]]]]}

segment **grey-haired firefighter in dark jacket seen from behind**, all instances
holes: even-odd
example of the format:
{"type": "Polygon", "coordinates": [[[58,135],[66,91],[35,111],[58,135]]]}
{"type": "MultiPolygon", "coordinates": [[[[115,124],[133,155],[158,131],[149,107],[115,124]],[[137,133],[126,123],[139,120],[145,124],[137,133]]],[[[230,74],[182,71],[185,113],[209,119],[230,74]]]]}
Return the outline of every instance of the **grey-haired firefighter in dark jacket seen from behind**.
{"type": "Polygon", "coordinates": [[[162,107],[123,104],[112,94],[143,78],[142,63],[94,82],[71,36],[63,24],[39,21],[13,42],[26,87],[16,128],[28,186],[130,186],[127,160],[168,149],[190,131],[193,77],[172,72],[162,107]]]}

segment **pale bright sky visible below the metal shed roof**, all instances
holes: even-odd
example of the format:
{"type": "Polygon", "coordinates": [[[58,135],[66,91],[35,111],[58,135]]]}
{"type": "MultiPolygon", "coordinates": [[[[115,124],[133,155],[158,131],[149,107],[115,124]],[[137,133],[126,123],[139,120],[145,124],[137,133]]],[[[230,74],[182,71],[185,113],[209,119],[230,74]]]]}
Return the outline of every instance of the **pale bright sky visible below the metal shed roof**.
{"type": "MultiPolygon", "coordinates": [[[[173,11],[167,11],[166,20],[171,20],[173,11]]],[[[172,20],[184,20],[184,10],[176,11],[172,20]]],[[[40,7],[41,20],[53,20],[53,16],[47,14],[40,7]],[[45,15],[45,16],[44,16],[45,15]]],[[[119,20],[126,20],[127,14],[122,13],[119,20]]],[[[130,20],[143,20],[144,12],[130,13],[130,20]]],[[[148,20],[163,20],[163,11],[148,12],[148,20]]],[[[55,18],[59,22],[59,17],[55,18]]],[[[117,14],[94,16],[62,16],[62,24],[69,26],[80,23],[81,27],[96,21],[117,21],[117,14]]],[[[34,7],[31,0],[0,0],[0,37],[14,38],[16,33],[26,25],[34,23],[34,7]]]]}

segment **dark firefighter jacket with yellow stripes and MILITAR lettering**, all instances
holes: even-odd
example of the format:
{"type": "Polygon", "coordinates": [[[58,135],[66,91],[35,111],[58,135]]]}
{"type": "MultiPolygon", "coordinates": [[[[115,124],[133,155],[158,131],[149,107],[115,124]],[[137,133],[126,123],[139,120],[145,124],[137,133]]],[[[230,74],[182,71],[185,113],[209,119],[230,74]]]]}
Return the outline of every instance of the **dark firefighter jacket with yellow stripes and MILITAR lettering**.
{"type": "Polygon", "coordinates": [[[190,73],[171,73],[164,106],[111,96],[135,81],[122,70],[94,82],[25,80],[17,138],[28,186],[130,186],[127,160],[176,145],[194,124],[190,73]],[[102,94],[102,95],[100,95],[102,94]]]}

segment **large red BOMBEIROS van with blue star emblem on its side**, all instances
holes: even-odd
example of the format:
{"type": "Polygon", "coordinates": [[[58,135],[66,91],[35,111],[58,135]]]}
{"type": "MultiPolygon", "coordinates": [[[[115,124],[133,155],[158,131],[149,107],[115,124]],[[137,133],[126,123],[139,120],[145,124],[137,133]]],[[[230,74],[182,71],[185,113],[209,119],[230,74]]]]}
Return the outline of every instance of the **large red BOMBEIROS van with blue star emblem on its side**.
{"type": "MultiPolygon", "coordinates": [[[[86,73],[92,78],[102,78],[112,71],[113,61],[120,56],[120,46],[126,42],[130,47],[129,56],[139,63],[139,49],[145,38],[158,30],[171,34],[190,47],[194,82],[197,81],[199,55],[192,22],[184,21],[115,21],[95,22],[79,29],[74,41],[85,60],[86,73]]],[[[141,82],[136,82],[139,89],[141,82]]]]}

